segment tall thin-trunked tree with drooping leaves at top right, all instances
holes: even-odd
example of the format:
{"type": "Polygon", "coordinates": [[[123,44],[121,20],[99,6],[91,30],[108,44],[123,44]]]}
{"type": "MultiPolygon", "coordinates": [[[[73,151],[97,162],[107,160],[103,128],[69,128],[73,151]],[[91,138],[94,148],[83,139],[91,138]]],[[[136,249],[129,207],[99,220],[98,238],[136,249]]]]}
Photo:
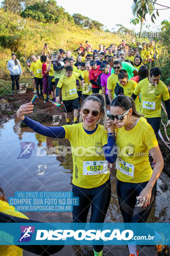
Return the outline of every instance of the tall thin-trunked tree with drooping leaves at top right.
{"type": "Polygon", "coordinates": [[[153,3],[147,0],[134,0],[135,2],[132,5],[133,16],[139,17],[141,22],[140,27],[140,37],[142,36],[142,26],[145,20],[145,15],[148,13],[151,15],[153,13],[153,3]],[[140,14],[140,15],[139,15],[140,14]]]}

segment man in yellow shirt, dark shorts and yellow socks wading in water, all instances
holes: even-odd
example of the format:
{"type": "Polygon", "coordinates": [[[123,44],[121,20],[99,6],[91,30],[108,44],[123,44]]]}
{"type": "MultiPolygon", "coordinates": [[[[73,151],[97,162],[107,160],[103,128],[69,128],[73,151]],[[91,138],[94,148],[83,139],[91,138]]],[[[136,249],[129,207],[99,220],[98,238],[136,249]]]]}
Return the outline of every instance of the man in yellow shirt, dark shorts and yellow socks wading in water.
{"type": "Polygon", "coordinates": [[[64,113],[67,124],[70,124],[68,113],[74,110],[74,123],[77,123],[78,116],[78,94],[76,89],[76,79],[81,80],[81,84],[84,83],[82,76],[79,73],[73,72],[73,67],[66,67],[65,75],[63,75],[56,87],[56,102],[59,103],[59,89],[62,88],[62,102],[64,105],[64,113]]]}

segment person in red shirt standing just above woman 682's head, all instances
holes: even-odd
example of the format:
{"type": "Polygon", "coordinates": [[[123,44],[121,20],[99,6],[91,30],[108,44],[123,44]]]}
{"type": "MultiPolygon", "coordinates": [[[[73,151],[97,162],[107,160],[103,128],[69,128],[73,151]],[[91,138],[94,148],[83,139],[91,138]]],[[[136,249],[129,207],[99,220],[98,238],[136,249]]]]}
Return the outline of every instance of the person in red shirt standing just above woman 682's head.
{"type": "Polygon", "coordinates": [[[96,61],[90,61],[91,70],[89,71],[89,81],[92,84],[92,92],[99,93],[99,84],[97,83],[98,76],[102,73],[100,66],[97,66],[96,61]]]}

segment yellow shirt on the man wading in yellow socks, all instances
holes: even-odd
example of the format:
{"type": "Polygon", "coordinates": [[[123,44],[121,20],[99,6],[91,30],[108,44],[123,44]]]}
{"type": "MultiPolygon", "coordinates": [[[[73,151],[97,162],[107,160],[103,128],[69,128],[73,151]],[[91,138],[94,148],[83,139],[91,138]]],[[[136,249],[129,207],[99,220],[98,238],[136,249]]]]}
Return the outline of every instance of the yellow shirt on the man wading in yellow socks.
{"type": "Polygon", "coordinates": [[[57,87],[62,87],[62,100],[71,100],[78,98],[76,89],[76,79],[79,78],[79,73],[73,72],[70,77],[63,75],[57,84],[57,87]]]}

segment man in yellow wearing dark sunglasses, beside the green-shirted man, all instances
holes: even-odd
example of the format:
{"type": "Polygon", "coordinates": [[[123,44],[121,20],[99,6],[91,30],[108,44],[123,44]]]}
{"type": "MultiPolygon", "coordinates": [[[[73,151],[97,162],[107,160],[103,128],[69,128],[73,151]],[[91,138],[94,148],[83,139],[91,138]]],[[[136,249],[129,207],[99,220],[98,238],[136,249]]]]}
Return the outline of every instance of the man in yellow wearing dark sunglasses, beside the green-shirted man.
{"type": "Polygon", "coordinates": [[[111,103],[112,99],[114,98],[114,89],[116,87],[116,83],[118,83],[118,74],[119,71],[122,69],[121,61],[114,61],[113,64],[114,73],[108,77],[107,81],[107,88],[108,88],[108,98],[111,103]]]}

